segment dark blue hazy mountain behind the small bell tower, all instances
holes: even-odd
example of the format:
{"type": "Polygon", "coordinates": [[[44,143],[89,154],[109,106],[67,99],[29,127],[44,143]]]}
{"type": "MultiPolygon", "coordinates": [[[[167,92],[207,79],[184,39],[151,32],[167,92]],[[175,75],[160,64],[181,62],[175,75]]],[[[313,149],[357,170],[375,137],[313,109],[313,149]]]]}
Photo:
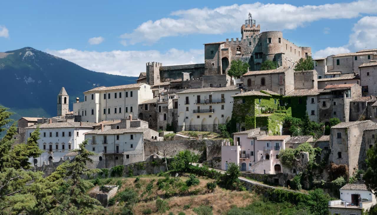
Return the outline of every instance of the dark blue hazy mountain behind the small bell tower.
{"type": "Polygon", "coordinates": [[[94,86],[131,84],[137,79],[90,71],[31,47],[0,52],[0,75],[0,104],[11,108],[15,119],[55,116],[61,87],[69,94],[72,110],[76,97],[82,101],[83,92],[94,86]]]}

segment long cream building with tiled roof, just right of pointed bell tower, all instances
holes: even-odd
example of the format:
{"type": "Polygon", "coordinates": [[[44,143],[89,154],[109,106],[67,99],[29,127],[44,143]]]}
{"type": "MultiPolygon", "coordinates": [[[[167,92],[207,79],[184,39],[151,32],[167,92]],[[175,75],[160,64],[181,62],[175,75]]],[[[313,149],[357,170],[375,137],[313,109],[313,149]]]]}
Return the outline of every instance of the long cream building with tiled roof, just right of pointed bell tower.
{"type": "Polygon", "coordinates": [[[130,114],[138,116],[138,105],[152,98],[152,90],[146,83],[101,86],[84,92],[84,101],[73,105],[74,115],[92,123],[127,118],[130,114]]]}

